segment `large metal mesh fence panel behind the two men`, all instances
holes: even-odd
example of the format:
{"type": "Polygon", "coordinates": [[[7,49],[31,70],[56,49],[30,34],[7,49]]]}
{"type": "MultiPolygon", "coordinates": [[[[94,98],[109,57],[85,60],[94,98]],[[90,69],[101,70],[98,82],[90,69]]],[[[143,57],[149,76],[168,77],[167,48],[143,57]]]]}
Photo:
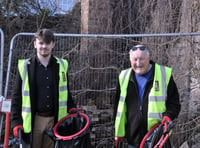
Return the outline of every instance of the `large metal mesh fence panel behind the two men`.
{"type": "MultiPolygon", "coordinates": [[[[69,88],[78,107],[93,122],[91,139],[94,147],[114,147],[113,100],[118,74],[130,67],[129,49],[145,44],[151,58],[173,68],[180,92],[182,111],[172,134],[175,147],[184,141],[194,145],[198,132],[199,34],[152,35],[83,35],[55,34],[53,54],[69,62],[69,88]],[[194,105],[195,104],[195,105],[194,105]],[[195,120],[193,120],[195,119],[195,120]],[[188,124],[193,128],[189,128],[188,124]],[[188,127],[188,128],[185,128],[188,127]],[[183,134],[184,133],[184,134],[183,134]],[[183,136],[184,135],[184,136],[183,136]],[[102,141],[104,143],[102,143],[102,141]]],[[[35,55],[33,34],[17,34],[10,48],[5,94],[11,97],[15,84],[17,61],[35,55]]],[[[125,144],[126,147],[126,144],[125,144]]]]}

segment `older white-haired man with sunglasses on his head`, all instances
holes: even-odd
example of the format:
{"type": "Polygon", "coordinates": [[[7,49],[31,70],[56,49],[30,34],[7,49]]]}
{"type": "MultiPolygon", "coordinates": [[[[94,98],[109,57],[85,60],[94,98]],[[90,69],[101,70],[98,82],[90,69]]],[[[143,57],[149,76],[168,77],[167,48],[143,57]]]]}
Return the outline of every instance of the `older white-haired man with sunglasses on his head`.
{"type": "Polygon", "coordinates": [[[178,116],[180,102],[171,68],[151,61],[144,45],[129,53],[131,68],[119,75],[114,103],[115,138],[116,145],[126,138],[129,148],[139,148],[153,125],[178,116]]]}

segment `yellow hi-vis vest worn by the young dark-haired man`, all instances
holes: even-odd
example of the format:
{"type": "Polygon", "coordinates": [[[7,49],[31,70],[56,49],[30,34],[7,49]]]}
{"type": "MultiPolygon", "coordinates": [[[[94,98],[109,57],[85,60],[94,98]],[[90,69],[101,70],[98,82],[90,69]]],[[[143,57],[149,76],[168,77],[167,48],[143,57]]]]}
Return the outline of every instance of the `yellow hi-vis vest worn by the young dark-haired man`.
{"type": "MultiPolygon", "coordinates": [[[[67,88],[67,70],[68,62],[64,59],[57,58],[59,64],[59,109],[58,120],[67,115],[67,100],[68,100],[68,88],[67,88]]],[[[18,61],[18,69],[20,77],[22,79],[22,119],[24,133],[30,133],[32,129],[31,125],[31,99],[30,99],[30,87],[27,65],[30,64],[30,59],[20,59],[18,61]]]]}

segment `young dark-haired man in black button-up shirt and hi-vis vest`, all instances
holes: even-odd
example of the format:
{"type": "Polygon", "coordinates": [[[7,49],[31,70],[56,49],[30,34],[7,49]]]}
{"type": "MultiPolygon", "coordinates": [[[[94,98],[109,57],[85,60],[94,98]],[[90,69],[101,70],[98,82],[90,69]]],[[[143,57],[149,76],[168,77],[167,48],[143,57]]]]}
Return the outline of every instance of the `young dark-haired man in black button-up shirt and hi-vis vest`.
{"type": "Polygon", "coordinates": [[[50,130],[76,105],[68,87],[68,62],[52,55],[54,34],[49,29],[35,33],[36,56],[18,61],[12,95],[11,126],[24,147],[53,148],[45,130],[50,130]]]}

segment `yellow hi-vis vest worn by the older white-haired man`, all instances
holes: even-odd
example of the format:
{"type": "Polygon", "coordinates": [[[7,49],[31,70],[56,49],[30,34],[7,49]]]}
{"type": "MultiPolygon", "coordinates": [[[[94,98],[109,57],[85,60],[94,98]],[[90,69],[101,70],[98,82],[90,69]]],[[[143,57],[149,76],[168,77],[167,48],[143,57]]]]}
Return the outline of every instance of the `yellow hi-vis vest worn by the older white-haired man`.
{"type": "MultiPolygon", "coordinates": [[[[115,137],[125,136],[126,124],[126,103],[127,87],[131,76],[132,69],[123,70],[119,75],[120,99],[115,118],[115,137]]],[[[167,86],[172,74],[172,69],[166,66],[155,64],[155,74],[153,87],[148,96],[148,120],[147,129],[162,120],[162,113],[166,111],[165,102],[167,99],[167,86]]]]}

